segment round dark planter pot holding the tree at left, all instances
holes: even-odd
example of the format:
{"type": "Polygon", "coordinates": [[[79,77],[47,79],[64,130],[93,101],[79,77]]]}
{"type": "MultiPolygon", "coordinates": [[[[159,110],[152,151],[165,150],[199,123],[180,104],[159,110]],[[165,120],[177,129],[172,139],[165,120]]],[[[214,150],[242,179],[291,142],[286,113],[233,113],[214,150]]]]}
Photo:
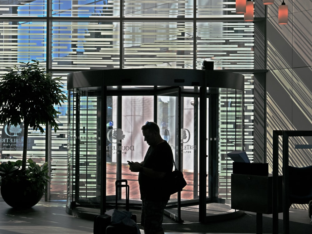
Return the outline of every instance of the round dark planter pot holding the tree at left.
{"type": "Polygon", "coordinates": [[[40,191],[27,191],[27,182],[19,183],[2,183],[1,195],[3,200],[13,208],[30,208],[36,205],[44,190],[40,191]]]}

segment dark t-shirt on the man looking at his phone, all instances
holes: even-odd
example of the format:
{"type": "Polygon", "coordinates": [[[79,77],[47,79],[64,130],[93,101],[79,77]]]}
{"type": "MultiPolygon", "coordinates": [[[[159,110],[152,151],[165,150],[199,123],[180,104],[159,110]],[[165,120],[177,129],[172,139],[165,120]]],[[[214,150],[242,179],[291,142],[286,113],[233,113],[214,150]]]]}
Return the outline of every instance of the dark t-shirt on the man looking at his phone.
{"type": "MultiPolygon", "coordinates": [[[[164,141],[155,147],[150,146],[144,157],[143,167],[152,168],[158,172],[171,172],[173,154],[170,145],[164,141]]],[[[139,185],[141,199],[168,201],[170,198],[170,194],[165,189],[165,179],[151,178],[140,172],[139,185]]]]}

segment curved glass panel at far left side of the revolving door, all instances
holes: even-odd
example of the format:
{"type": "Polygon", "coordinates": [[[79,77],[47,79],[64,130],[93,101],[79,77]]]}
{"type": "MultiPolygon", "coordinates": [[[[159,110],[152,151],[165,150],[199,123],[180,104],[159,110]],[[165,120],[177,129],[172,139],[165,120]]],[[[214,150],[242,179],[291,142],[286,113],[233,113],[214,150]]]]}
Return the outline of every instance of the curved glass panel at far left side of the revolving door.
{"type": "Polygon", "coordinates": [[[97,161],[100,159],[99,109],[100,96],[93,91],[76,93],[76,158],[75,167],[76,202],[100,204],[100,173],[97,161]],[[78,147],[78,149],[77,149],[78,147]]]}

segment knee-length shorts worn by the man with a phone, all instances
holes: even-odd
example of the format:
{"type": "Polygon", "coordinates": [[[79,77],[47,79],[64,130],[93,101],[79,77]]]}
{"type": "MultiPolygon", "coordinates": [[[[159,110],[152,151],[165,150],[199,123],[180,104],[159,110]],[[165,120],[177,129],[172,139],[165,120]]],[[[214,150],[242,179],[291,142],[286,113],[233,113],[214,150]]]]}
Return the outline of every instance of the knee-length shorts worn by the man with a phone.
{"type": "Polygon", "coordinates": [[[145,233],[163,231],[163,211],[167,202],[142,200],[141,225],[145,233]]]}

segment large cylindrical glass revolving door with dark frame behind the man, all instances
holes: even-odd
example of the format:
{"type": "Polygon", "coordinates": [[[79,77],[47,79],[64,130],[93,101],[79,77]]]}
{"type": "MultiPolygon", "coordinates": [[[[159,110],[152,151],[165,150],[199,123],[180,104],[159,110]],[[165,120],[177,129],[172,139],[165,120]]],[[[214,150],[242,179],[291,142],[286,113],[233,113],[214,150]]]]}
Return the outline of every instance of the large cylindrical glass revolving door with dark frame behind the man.
{"type": "MultiPolygon", "coordinates": [[[[115,204],[115,181],[127,179],[130,208],[140,207],[138,173],[148,145],[141,126],[154,121],[173,150],[188,185],[168,207],[181,222],[181,207],[230,199],[232,163],[243,150],[243,82],[239,74],[187,69],[116,69],[68,75],[69,155],[66,209],[115,204]]],[[[121,194],[119,199],[123,199],[121,194]]]]}

